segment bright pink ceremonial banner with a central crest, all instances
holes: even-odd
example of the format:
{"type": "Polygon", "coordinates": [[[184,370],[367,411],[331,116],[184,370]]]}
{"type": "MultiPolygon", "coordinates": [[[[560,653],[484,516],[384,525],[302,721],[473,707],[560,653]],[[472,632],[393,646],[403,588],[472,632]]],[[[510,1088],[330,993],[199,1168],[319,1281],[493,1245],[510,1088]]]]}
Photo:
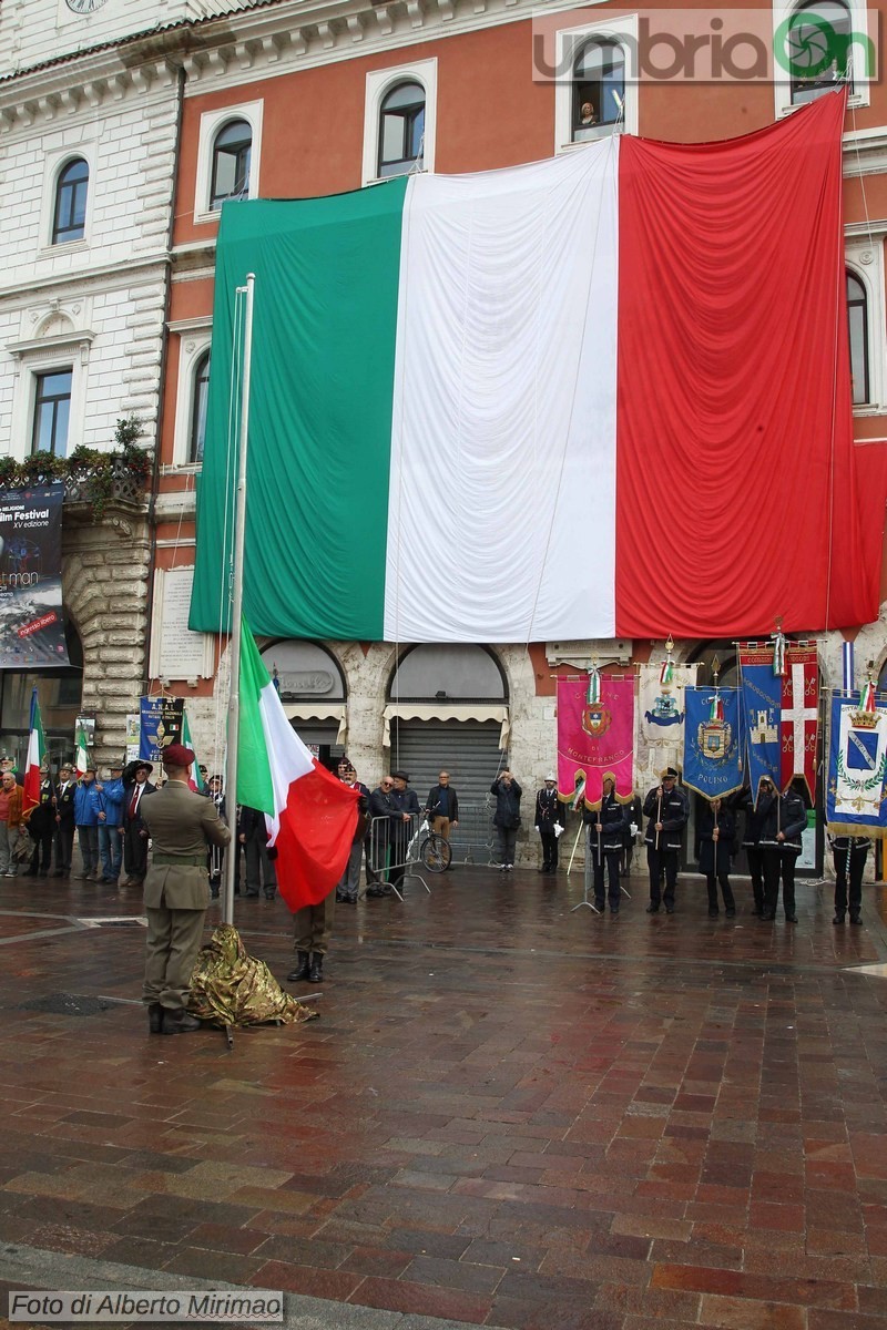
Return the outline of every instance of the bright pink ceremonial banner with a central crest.
{"type": "Polygon", "coordinates": [[[616,798],[634,793],[634,680],[601,674],[600,701],[588,701],[588,676],[557,678],[557,793],[572,799],[585,781],[585,802],[598,807],[604,773],[616,778],[616,798]]]}

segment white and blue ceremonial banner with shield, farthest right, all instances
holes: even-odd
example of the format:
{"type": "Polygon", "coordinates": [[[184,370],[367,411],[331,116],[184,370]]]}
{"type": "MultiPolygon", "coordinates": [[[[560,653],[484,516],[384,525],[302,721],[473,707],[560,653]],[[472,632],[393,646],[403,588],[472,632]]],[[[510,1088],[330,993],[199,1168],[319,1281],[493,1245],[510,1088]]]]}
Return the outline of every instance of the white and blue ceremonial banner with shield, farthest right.
{"type": "Polygon", "coordinates": [[[826,822],[834,835],[887,838],[887,706],[860,694],[831,701],[826,822]]]}

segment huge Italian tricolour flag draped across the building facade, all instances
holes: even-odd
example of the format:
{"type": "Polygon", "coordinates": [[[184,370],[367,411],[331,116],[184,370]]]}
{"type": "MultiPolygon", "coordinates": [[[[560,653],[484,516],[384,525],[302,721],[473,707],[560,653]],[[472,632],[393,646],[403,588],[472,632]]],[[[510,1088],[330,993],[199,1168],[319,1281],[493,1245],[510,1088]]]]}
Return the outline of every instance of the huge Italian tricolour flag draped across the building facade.
{"type": "MultiPolygon", "coordinates": [[[[876,616],[856,508],[843,93],[729,142],[226,205],[190,626],[729,637],[876,616]]],[[[883,517],[883,512],[882,512],[883,517]]]]}

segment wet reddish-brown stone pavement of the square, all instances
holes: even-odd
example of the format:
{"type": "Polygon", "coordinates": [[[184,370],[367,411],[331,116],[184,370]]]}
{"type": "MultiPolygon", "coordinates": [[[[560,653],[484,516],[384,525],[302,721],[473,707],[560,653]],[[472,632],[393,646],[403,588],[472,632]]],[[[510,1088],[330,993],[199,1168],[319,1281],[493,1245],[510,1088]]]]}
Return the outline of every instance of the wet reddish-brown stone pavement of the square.
{"type": "MultiPolygon", "coordinates": [[[[340,906],[322,1019],[229,1052],[150,1037],[144,930],[77,922],[136,892],[3,879],[3,1287],[43,1261],[327,1299],[291,1301],[313,1326],[883,1330],[883,888],[864,928],[828,887],[795,927],[743,882],[735,920],[698,878],[672,918],[630,890],[597,918],[576,875],[460,868],[340,906]]],[[[286,907],[235,922],[282,978],[286,907]]]]}

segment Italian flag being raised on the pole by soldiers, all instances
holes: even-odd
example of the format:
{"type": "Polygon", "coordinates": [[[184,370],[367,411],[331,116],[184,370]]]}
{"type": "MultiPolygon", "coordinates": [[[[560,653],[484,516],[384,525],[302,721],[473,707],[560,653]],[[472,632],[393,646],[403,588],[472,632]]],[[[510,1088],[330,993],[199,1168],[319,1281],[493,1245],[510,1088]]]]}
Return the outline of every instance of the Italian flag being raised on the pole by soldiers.
{"type": "Polygon", "coordinates": [[[241,621],[237,802],[261,809],[277,847],[290,910],[315,906],[344,871],[358,826],[358,790],[309,753],[286,718],[246,621],[241,621]]]}

